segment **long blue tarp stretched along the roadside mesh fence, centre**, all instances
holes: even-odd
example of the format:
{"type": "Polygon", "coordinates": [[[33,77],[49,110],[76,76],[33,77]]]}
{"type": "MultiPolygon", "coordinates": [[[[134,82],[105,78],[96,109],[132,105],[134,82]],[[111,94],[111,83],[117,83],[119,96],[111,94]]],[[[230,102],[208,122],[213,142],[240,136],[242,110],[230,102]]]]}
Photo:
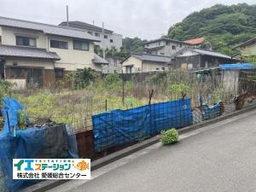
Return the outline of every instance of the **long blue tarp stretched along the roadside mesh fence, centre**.
{"type": "Polygon", "coordinates": [[[94,148],[138,141],[161,130],[192,124],[191,101],[180,99],[128,110],[113,110],[92,116],[94,148]]]}

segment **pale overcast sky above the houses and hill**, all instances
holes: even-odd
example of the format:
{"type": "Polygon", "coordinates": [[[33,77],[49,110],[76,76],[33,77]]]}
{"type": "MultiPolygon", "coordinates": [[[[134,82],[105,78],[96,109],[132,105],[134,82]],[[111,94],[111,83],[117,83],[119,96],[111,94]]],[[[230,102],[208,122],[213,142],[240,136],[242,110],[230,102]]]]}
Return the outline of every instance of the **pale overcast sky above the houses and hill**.
{"type": "Polygon", "coordinates": [[[193,11],[216,3],[256,3],[255,0],[0,0],[0,15],[59,24],[81,20],[120,33],[123,37],[159,38],[193,11]]]}

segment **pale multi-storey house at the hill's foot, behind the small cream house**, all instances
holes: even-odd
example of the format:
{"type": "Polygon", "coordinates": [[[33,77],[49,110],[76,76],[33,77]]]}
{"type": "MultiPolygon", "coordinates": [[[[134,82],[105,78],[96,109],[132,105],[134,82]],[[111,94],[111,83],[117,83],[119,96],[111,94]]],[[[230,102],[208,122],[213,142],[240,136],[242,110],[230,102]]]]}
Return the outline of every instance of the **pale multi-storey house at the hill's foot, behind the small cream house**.
{"type": "Polygon", "coordinates": [[[144,49],[145,52],[150,55],[171,56],[176,54],[180,49],[188,46],[189,44],[184,43],[183,41],[162,37],[148,41],[144,44],[144,49]]]}

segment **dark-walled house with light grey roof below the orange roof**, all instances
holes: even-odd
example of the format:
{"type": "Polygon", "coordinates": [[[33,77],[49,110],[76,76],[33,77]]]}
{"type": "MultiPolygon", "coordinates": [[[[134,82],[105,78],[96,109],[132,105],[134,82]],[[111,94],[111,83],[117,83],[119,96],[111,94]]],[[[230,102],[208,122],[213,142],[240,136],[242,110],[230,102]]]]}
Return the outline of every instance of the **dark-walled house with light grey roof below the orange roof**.
{"type": "Polygon", "coordinates": [[[172,68],[207,68],[218,67],[219,64],[238,62],[229,55],[220,54],[213,50],[187,47],[172,55],[169,67],[172,68]]]}

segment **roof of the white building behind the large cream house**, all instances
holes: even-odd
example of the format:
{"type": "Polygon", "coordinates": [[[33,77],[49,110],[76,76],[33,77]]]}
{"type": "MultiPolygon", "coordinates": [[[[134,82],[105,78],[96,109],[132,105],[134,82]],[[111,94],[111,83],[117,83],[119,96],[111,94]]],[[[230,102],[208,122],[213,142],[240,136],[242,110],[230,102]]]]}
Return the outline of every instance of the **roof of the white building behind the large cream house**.
{"type": "MultiPolygon", "coordinates": [[[[59,26],[67,26],[67,21],[61,22],[61,24],[59,26]]],[[[83,29],[83,30],[96,30],[96,31],[102,32],[102,27],[94,26],[94,25],[91,25],[89,23],[85,23],[82,21],[68,21],[68,26],[83,29]]],[[[108,30],[108,29],[104,29],[104,32],[113,33],[113,31],[108,30]]]]}

